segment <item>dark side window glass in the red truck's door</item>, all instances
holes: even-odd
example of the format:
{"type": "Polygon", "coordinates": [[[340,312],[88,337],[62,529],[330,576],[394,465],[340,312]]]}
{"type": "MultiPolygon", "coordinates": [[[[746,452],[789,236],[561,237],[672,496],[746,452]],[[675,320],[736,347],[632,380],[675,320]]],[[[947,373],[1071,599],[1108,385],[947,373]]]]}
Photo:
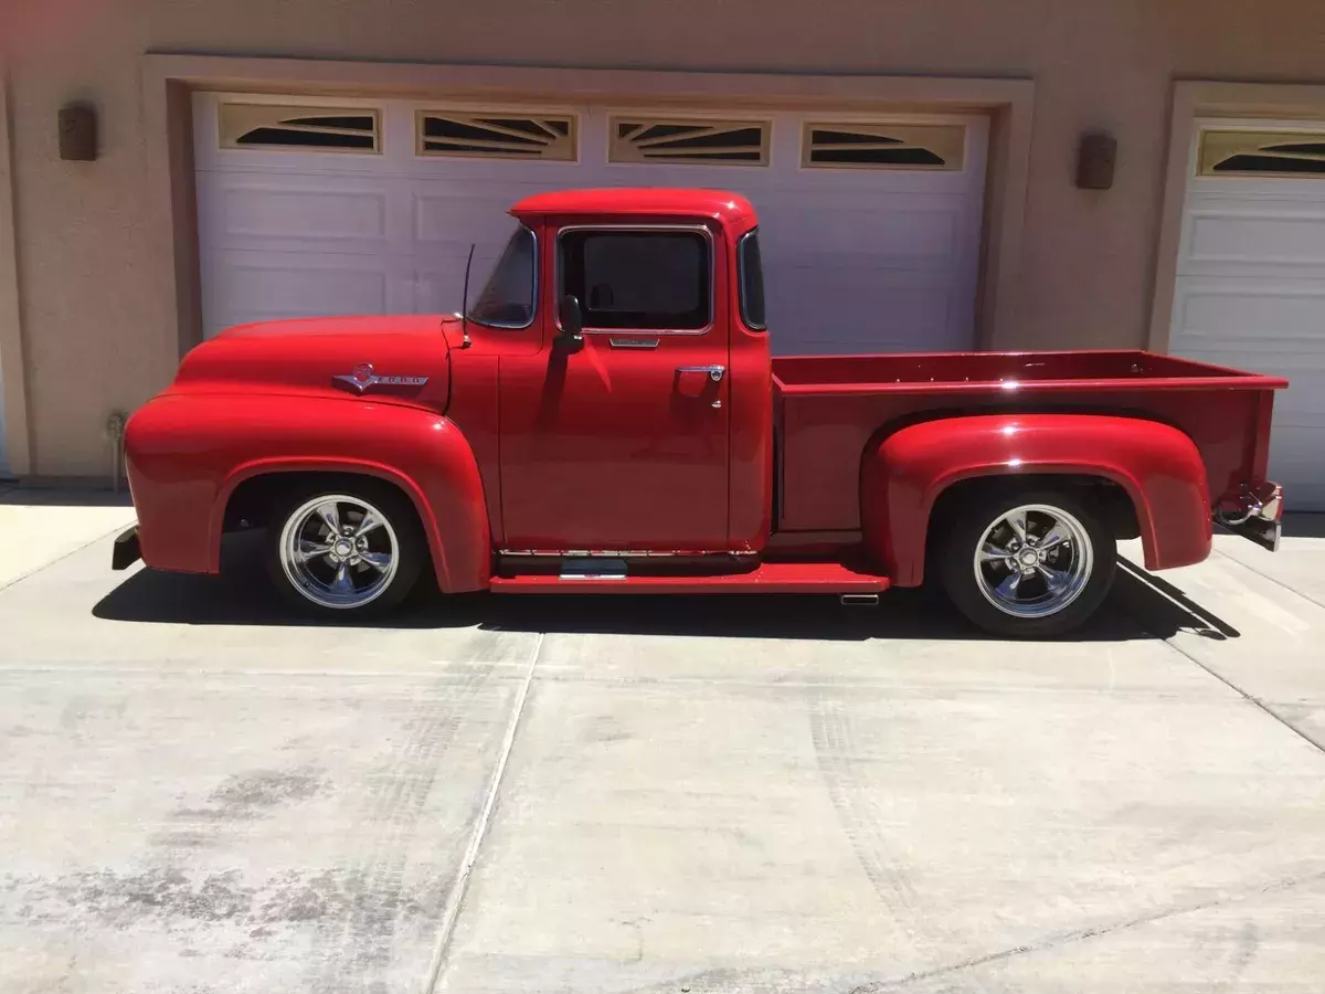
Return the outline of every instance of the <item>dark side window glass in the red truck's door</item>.
{"type": "Polygon", "coordinates": [[[713,250],[700,231],[570,229],[559,239],[560,294],[586,330],[704,331],[713,321],[713,250]]]}

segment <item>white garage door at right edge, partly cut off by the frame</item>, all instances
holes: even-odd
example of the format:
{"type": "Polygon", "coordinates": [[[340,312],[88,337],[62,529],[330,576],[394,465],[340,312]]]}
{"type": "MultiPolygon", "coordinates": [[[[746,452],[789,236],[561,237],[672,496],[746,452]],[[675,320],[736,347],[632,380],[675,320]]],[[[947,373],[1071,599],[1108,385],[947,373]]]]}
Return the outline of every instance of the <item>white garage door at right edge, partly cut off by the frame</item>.
{"type": "Polygon", "coordinates": [[[1288,376],[1269,474],[1325,510],[1325,125],[1199,122],[1170,350],[1288,376]]]}

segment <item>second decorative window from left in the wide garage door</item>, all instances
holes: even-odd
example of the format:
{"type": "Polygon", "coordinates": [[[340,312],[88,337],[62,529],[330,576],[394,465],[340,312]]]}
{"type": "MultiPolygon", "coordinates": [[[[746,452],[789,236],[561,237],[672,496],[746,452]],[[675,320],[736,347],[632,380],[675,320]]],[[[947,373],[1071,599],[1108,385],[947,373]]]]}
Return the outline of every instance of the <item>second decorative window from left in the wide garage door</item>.
{"type": "Polygon", "coordinates": [[[575,162],[572,115],[421,110],[415,122],[419,155],[575,162]]]}

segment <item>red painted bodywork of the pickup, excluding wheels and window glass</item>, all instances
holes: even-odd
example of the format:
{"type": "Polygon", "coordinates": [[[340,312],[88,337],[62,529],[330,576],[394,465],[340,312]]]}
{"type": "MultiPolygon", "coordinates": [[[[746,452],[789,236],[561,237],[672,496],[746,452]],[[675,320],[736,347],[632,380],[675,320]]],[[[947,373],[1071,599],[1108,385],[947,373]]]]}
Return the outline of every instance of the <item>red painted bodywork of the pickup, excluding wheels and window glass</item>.
{"type": "Polygon", "coordinates": [[[918,583],[933,501],[971,474],[1116,480],[1137,505],[1151,567],[1203,557],[1210,505],[1264,478],[1283,380],[1137,351],[770,359],[768,333],[746,327],[737,304],[735,247],[757,224],[743,197],[570,191],[511,213],[539,245],[526,329],[318,318],[232,329],[189,353],[127,429],[144,561],[215,571],[237,485],[325,469],[409,494],[444,590],[872,592],[889,580],[841,563],[864,546],[894,583],[918,583]],[[586,333],[582,349],[566,349],[554,318],[558,232],[635,223],[709,232],[712,327],[586,333]],[[612,341],[639,338],[657,346],[612,341]],[[364,363],[409,379],[360,396],[337,378],[364,363]],[[726,371],[712,380],[681,366],[726,371]],[[617,584],[493,579],[502,549],[767,550],[782,561],[617,584]]]}

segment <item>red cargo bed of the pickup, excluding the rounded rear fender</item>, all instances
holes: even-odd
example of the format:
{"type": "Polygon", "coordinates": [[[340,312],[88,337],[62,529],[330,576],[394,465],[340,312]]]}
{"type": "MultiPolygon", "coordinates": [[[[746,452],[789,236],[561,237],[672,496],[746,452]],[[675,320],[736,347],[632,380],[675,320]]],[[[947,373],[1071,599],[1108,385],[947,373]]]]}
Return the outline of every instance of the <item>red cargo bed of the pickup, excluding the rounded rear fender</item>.
{"type": "Polygon", "coordinates": [[[783,357],[772,360],[778,530],[860,527],[860,456],[873,436],[951,414],[1096,412],[1186,432],[1211,502],[1264,478],[1275,376],[1140,350],[783,357]],[[844,453],[852,453],[844,459],[844,453]]]}

